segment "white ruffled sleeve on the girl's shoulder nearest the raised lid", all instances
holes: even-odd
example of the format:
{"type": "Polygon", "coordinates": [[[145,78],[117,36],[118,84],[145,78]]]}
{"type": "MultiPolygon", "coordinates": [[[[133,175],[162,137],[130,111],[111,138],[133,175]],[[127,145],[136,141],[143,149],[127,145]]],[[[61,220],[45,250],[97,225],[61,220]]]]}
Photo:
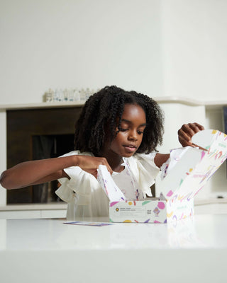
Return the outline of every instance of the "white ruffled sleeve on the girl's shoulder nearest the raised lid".
{"type": "Polygon", "coordinates": [[[140,189],[150,197],[152,197],[150,187],[155,183],[155,178],[160,172],[160,168],[155,165],[155,155],[155,153],[135,154],[127,159],[140,189]]]}

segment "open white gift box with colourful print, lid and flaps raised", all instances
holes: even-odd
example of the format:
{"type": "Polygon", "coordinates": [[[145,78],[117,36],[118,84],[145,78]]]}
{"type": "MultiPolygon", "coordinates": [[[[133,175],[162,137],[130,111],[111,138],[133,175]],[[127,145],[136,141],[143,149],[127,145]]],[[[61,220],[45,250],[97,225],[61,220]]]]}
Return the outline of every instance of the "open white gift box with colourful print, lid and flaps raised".
{"type": "Polygon", "coordinates": [[[160,197],[126,200],[106,166],[99,166],[101,187],[109,197],[112,222],[167,223],[194,214],[194,196],[227,157],[227,135],[214,129],[196,133],[198,147],[173,149],[162,165],[160,197]]]}

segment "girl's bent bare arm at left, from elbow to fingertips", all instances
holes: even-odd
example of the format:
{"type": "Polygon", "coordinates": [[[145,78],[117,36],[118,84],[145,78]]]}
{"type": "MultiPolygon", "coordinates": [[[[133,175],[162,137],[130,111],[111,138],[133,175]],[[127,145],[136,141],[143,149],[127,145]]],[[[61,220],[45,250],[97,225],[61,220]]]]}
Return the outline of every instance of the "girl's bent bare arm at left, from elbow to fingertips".
{"type": "Polygon", "coordinates": [[[28,185],[46,183],[52,180],[69,176],[63,170],[70,166],[79,166],[84,171],[92,173],[99,168],[99,165],[106,165],[109,172],[111,167],[106,158],[93,156],[63,156],[59,158],[49,158],[35,161],[19,163],[16,166],[4,171],[0,177],[0,183],[6,189],[18,189],[28,185]]]}

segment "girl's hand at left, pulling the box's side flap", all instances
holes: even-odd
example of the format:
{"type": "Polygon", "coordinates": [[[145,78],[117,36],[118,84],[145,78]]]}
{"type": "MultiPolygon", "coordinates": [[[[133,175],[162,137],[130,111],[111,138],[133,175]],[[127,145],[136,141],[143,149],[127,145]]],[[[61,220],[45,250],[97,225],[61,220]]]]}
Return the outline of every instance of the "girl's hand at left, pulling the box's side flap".
{"type": "Polygon", "coordinates": [[[109,173],[113,173],[113,170],[111,169],[111,166],[109,166],[109,163],[106,161],[106,158],[104,157],[94,157],[94,156],[83,156],[83,155],[77,155],[77,165],[82,170],[86,171],[87,173],[90,173],[94,175],[95,178],[97,178],[97,169],[99,168],[99,165],[105,165],[109,173]]]}

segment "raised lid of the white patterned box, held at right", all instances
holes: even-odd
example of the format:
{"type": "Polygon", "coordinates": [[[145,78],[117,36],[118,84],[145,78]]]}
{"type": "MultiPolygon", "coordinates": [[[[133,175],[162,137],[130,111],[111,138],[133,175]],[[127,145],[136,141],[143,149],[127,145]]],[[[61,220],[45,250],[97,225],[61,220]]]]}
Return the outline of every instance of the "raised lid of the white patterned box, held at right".
{"type": "Polygon", "coordinates": [[[160,192],[166,200],[194,197],[226,160],[226,134],[207,129],[196,133],[192,141],[205,150],[192,146],[173,149],[170,159],[162,166],[160,192]]]}

